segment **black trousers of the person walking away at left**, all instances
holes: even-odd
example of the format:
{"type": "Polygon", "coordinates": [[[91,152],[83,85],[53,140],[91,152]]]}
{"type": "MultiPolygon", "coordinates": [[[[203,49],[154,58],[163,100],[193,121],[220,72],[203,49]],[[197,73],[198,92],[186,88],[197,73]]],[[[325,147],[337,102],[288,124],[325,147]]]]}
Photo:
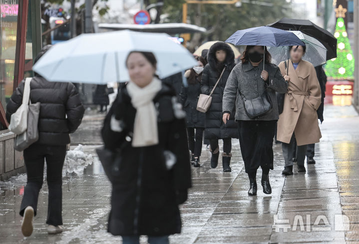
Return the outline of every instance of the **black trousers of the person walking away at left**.
{"type": "Polygon", "coordinates": [[[20,215],[27,206],[32,206],[36,215],[37,199],[43,182],[43,167],[46,159],[48,185],[47,224],[62,225],[62,166],[66,155],[66,145],[30,145],[23,151],[27,171],[20,215]]]}

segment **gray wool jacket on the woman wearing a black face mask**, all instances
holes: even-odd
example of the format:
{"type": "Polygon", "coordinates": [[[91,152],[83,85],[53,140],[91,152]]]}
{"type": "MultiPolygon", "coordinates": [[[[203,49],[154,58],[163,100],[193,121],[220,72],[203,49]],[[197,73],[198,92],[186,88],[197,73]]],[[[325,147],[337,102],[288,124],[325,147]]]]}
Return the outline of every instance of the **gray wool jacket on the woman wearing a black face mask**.
{"type": "Polygon", "coordinates": [[[263,62],[258,67],[254,67],[249,61],[246,63],[240,62],[233,68],[224,89],[223,112],[233,111],[234,106],[236,106],[236,120],[277,120],[279,118],[276,91],[286,93],[288,83],[277,65],[272,63],[265,64],[265,70],[269,74],[267,84],[261,78],[262,70],[263,62]],[[266,87],[272,101],[271,110],[258,118],[250,118],[246,114],[238,89],[247,99],[253,99],[260,96],[266,87]]]}

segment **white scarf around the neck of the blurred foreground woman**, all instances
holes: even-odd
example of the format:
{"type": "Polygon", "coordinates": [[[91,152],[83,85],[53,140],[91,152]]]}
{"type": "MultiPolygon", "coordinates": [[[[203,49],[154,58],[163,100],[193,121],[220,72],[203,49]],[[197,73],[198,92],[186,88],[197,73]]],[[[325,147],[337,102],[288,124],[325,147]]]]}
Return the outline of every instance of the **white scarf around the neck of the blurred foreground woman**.
{"type": "Polygon", "coordinates": [[[143,88],[132,81],[127,84],[131,103],[137,110],[133,127],[133,147],[158,144],[157,111],[153,98],[161,88],[162,82],[156,77],[143,88]]]}

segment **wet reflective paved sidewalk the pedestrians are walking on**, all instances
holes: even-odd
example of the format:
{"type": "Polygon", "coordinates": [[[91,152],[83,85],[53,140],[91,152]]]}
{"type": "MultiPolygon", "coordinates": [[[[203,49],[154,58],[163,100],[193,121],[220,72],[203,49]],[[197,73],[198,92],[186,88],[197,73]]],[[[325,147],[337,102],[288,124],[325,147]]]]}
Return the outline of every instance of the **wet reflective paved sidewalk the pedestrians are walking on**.
{"type": "MultiPolygon", "coordinates": [[[[101,142],[102,117],[89,113],[72,136],[73,144],[85,142],[85,152],[94,153],[101,142]]],[[[358,125],[359,116],[352,106],[326,105],[323,138],[316,144],[317,163],[307,165],[306,173],[282,176],[281,145],[275,144],[270,195],[262,191],[259,170],[258,195],[248,196],[238,140],[233,140],[230,173],[222,172],[221,165],[209,167],[210,152],[204,146],[203,165],[192,169],[193,188],[181,205],[183,231],[171,236],[171,243],[359,243],[358,125]]],[[[47,235],[44,184],[35,230],[28,238],[20,232],[18,215],[23,186],[5,189],[0,193],[0,242],[121,243],[121,237],[106,232],[110,189],[96,158],[82,175],[64,176],[65,231],[47,235]]],[[[141,243],[146,243],[145,237],[141,243]]]]}

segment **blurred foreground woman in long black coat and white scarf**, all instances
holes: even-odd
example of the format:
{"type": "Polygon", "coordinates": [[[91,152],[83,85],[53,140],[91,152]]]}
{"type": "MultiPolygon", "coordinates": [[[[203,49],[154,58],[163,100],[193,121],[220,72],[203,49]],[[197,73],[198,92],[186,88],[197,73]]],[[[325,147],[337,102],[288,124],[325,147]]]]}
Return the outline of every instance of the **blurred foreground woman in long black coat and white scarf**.
{"type": "Polygon", "coordinates": [[[175,91],[155,76],[153,53],[131,52],[126,64],[131,81],[102,128],[105,148],[122,157],[112,181],[108,231],[122,235],[124,244],[139,243],[140,235],[168,243],[168,235],[181,232],[178,204],[191,187],[185,113],[175,91]],[[171,155],[174,160],[166,159],[171,155]]]}

